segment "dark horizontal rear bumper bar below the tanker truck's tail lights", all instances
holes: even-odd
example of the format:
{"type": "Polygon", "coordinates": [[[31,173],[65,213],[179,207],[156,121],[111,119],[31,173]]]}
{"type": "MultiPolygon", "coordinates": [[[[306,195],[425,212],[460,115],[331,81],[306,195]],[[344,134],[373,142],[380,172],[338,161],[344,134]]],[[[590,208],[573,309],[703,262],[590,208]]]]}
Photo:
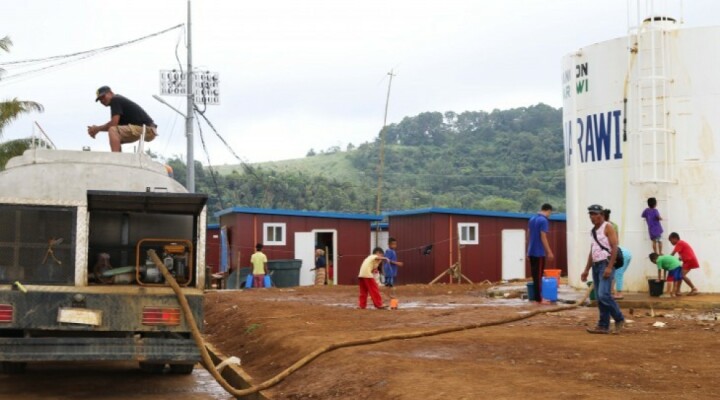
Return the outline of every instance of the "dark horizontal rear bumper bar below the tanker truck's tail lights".
{"type": "Polygon", "coordinates": [[[0,338],[3,361],[199,362],[192,339],[169,338],[0,338]]]}

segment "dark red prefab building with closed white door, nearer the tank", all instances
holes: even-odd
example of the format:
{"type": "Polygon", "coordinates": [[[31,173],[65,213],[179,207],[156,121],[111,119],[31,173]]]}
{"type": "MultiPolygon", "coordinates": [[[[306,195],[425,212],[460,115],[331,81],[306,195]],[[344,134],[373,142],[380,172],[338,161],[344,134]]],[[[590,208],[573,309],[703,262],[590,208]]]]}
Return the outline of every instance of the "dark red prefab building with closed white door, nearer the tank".
{"type": "MultiPolygon", "coordinates": [[[[458,262],[473,282],[530,277],[526,236],[534,214],[426,208],[386,215],[389,235],[398,240],[398,259],[404,263],[399,284],[428,283],[458,262]]],[[[552,215],[549,230],[555,261],[548,268],[567,275],[565,216],[552,215]]]]}

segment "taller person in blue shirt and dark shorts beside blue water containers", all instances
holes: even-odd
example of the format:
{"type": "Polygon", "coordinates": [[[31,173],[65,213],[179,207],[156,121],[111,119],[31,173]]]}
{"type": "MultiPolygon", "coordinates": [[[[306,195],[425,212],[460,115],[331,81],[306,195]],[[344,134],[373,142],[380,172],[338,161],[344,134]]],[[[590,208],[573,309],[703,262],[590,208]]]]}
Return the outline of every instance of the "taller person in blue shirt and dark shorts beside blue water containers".
{"type": "Polygon", "coordinates": [[[547,233],[549,231],[550,214],[552,214],[552,206],[545,203],[540,207],[540,212],[530,218],[528,222],[528,258],[530,258],[530,273],[533,277],[533,287],[535,289],[534,300],[538,303],[542,302],[541,282],[543,270],[545,269],[545,261],[552,262],[555,256],[550,250],[547,233]]]}

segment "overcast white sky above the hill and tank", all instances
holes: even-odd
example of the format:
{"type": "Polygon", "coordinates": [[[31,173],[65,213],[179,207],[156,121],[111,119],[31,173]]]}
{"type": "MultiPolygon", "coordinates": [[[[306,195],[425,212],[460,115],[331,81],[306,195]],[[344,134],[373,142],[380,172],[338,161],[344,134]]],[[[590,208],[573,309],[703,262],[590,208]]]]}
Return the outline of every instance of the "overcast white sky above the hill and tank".
{"type": "MultiPolygon", "coordinates": [[[[681,9],[680,1],[657,3],[669,3],[673,15],[681,9]]],[[[372,141],[391,69],[388,123],[425,111],[560,107],[561,58],[628,28],[626,0],[194,0],[192,9],[193,64],[220,76],[220,105],[206,115],[250,162],[372,141]]],[[[4,2],[0,36],[14,46],[0,63],[122,43],[185,23],[186,10],[185,0],[4,2]]],[[[685,1],[682,14],[687,27],[718,25],[720,1],[685,1]]],[[[0,65],[0,98],[45,106],[3,138],[27,137],[37,121],[59,148],[108,151],[107,134],[93,140],[86,127],[109,120],[109,109],[94,102],[95,90],[109,85],[159,125],[152,151],[184,158],[184,120],[152,98],[159,71],[178,67],[178,42],[185,68],[184,32],[36,73],[0,65]]],[[[185,110],[184,98],[165,99],[185,110]]],[[[206,164],[195,131],[195,158],[206,164]]],[[[213,164],[237,163],[203,132],[213,164]]]]}

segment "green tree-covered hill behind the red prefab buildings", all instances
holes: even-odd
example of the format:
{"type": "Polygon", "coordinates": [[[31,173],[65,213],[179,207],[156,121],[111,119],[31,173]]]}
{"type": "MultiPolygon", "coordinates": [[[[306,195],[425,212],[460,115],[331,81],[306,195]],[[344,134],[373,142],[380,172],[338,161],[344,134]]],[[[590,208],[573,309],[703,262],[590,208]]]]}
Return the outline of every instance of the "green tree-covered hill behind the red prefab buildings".
{"type": "MultiPolygon", "coordinates": [[[[510,110],[426,112],[384,132],[382,210],[456,207],[564,209],[562,112],[544,104],[510,110]]],[[[212,210],[229,206],[374,213],[380,135],[351,151],[221,166],[196,162],[196,188],[212,210]]],[[[310,153],[312,154],[312,152],[310,153]]],[[[182,160],[170,160],[185,179],[182,160]]]]}

